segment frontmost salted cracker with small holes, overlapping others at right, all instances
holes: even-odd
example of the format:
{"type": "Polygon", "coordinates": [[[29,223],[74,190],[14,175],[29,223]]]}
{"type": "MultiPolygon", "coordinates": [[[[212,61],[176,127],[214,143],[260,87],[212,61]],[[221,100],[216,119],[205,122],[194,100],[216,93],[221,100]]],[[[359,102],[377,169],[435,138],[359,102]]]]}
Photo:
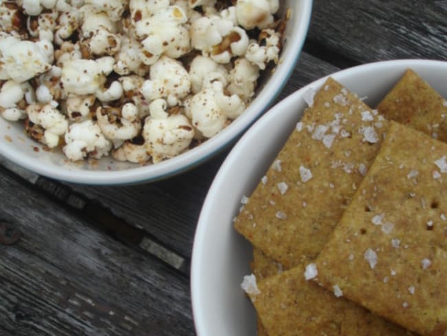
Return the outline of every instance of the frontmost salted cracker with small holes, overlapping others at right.
{"type": "Polygon", "coordinates": [[[447,333],[447,144],[391,123],[317,259],[318,282],[422,335],[447,333]]]}

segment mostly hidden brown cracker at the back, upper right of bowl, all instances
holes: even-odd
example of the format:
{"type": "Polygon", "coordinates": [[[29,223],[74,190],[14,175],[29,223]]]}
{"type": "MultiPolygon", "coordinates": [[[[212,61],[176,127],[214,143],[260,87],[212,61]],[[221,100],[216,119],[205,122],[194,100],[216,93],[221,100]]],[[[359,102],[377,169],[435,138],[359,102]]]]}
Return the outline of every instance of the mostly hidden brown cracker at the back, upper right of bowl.
{"type": "Polygon", "coordinates": [[[413,70],[405,72],[378,110],[389,120],[447,142],[447,101],[413,70]]]}

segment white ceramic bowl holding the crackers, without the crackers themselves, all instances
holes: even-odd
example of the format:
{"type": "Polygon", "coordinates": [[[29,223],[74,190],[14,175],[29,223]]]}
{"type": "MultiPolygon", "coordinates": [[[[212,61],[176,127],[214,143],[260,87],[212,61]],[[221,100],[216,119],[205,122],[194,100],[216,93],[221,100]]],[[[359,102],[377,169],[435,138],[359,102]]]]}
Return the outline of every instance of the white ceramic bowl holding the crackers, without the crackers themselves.
{"type": "MultiPolygon", "coordinates": [[[[331,74],[374,107],[404,74],[415,70],[447,97],[447,62],[405,60],[360,65],[331,74]]],[[[199,336],[256,335],[252,304],[240,288],[250,271],[252,248],[232,226],[242,196],[249,196],[301,118],[303,94],[326,78],[303,87],[275,105],[232,149],[204,202],[197,225],[191,268],[193,314],[199,336]]]]}

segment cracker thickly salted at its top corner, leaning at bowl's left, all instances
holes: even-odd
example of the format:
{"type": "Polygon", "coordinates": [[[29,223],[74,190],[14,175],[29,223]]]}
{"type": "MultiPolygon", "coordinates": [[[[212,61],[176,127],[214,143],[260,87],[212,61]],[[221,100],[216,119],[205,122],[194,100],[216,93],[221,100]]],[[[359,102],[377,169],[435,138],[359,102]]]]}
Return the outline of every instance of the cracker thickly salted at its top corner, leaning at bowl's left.
{"type": "Polygon", "coordinates": [[[286,268],[316,258],[377,154],[388,122],[329,78],[235,219],[286,268]]]}

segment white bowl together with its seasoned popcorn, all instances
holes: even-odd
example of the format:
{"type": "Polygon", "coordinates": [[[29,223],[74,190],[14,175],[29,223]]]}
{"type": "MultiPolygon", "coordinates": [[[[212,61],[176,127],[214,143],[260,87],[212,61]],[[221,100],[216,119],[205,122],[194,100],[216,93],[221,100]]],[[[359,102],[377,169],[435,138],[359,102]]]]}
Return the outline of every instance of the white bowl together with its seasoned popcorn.
{"type": "MultiPolygon", "coordinates": [[[[36,24],[36,31],[23,35],[32,39],[20,36],[29,41],[2,36],[0,49],[16,50],[17,57],[8,54],[11,64],[2,68],[0,80],[1,156],[37,174],[89,185],[149,182],[195,167],[235,141],[274,101],[294,69],[312,12],[311,0],[272,1],[268,8],[263,3],[261,12],[250,10],[255,6],[251,1],[228,8],[206,8],[221,6],[215,1],[161,1],[155,14],[153,8],[138,8],[138,3],[128,8],[127,3],[113,8],[95,1],[67,4],[68,9],[56,4],[25,8],[30,18],[39,16],[39,24],[48,16],[65,22],[68,12],[76,17],[80,13],[79,25],[57,26],[39,35],[36,24]],[[219,15],[207,17],[206,12],[219,15]],[[263,17],[253,23],[256,13],[263,17]],[[138,35],[140,21],[156,18],[153,26],[164,28],[157,28],[152,40],[144,39],[147,34],[137,40],[126,37],[116,50],[120,34],[135,29],[138,35]],[[98,20],[105,27],[101,31],[94,24],[98,20]],[[232,27],[217,39],[219,45],[204,36],[215,25],[232,27]],[[72,28],[80,30],[76,43],[71,42],[76,36],[65,36],[72,28]],[[252,32],[259,34],[259,41],[249,39],[252,32]],[[54,34],[54,44],[48,34],[54,34]],[[96,42],[104,34],[115,47],[100,50],[104,43],[96,42]],[[157,44],[157,36],[166,41],[157,44]],[[158,54],[147,50],[159,47],[158,54]],[[43,52],[53,48],[51,55],[43,52]],[[257,59],[263,48],[273,48],[270,54],[276,50],[276,56],[257,59]],[[35,66],[19,71],[17,59],[33,55],[39,56],[35,66]]],[[[1,6],[9,6],[12,17],[20,13],[14,3],[1,6]]],[[[11,21],[11,30],[21,29],[17,22],[11,21]]]]}

